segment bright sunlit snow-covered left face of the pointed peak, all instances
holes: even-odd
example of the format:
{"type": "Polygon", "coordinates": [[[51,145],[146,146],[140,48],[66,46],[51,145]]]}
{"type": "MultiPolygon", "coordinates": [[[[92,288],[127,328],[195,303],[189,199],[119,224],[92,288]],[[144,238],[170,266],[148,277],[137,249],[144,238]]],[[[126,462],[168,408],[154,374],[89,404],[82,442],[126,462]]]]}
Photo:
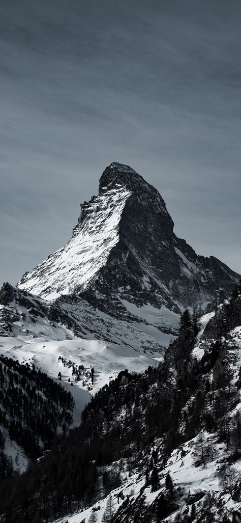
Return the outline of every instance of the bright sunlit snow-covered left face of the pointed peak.
{"type": "Polygon", "coordinates": [[[67,245],[22,277],[19,289],[52,300],[78,287],[85,290],[118,242],[118,227],[130,191],[119,185],[82,206],[67,245]]]}

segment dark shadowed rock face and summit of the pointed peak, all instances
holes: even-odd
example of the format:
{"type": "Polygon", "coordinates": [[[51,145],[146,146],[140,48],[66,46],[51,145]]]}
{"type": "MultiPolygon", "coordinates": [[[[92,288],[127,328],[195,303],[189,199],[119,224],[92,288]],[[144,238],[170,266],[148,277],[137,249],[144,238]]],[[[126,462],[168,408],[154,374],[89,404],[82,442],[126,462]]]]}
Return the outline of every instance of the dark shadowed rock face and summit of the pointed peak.
{"type": "Polygon", "coordinates": [[[107,287],[113,298],[117,294],[118,298],[138,305],[165,303],[168,290],[163,283],[170,281],[173,271],[178,270],[173,248],[174,223],[159,192],[132,169],[122,170],[116,164],[107,167],[99,190],[106,190],[107,181],[113,186],[124,180],[131,194],[119,222],[119,241],[95,286],[102,293],[107,287]],[[155,291],[159,296],[153,295],[155,291]]]}

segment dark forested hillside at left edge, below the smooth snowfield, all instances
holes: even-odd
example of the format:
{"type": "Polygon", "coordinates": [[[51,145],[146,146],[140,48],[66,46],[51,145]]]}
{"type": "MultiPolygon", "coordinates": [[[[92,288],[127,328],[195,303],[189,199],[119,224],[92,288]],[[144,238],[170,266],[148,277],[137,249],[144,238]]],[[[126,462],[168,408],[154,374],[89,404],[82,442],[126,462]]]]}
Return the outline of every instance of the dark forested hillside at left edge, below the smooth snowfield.
{"type": "Polygon", "coordinates": [[[74,400],[61,384],[28,363],[0,356],[1,480],[51,447],[72,422],[74,400]]]}

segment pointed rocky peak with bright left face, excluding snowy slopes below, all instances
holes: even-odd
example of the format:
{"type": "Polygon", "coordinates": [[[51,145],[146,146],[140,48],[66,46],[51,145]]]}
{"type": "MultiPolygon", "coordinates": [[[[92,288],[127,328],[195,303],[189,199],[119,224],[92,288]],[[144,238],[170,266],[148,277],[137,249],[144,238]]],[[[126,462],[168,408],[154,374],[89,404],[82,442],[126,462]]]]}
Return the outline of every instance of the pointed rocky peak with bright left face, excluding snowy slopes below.
{"type": "MultiPolygon", "coordinates": [[[[238,280],[218,259],[198,256],[176,237],[159,192],[129,166],[107,167],[99,195],[81,209],[71,240],[26,273],[19,289],[45,300],[80,293],[114,317],[127,311],[143,317],[140,307],[155,315],[154,307],[163,327],[168,310],[178,314],[212,301],[219,289],[229,294],[238,280]]],[[[170,321],[177,326],[175,316],[170,321]]]]}

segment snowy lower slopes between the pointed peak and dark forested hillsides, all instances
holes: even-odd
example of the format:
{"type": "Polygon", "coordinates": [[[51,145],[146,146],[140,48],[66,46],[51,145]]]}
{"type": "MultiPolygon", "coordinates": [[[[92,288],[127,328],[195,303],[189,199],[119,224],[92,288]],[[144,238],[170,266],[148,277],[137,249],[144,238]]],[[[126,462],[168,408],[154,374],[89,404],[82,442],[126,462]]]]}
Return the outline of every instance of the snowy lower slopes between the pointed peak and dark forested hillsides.
{"type": "Polygon", "coordinates": [[[151,319],[139,321],[128,313],[128,319],[118,320],[78,296],[45,301],[9,284],[0,293],[0,352],[21,363],[34,363],[54,379],[60,371],[62,384],[75,398],[77,425],[90,394],[121,370],[143,372],[155,365],[172,338],[151,319]],[[59,357],[83,365],[87,375],[94,368],[93,386],[83,374],[76,382],[73,365],[68,368],[59,357]]]}

